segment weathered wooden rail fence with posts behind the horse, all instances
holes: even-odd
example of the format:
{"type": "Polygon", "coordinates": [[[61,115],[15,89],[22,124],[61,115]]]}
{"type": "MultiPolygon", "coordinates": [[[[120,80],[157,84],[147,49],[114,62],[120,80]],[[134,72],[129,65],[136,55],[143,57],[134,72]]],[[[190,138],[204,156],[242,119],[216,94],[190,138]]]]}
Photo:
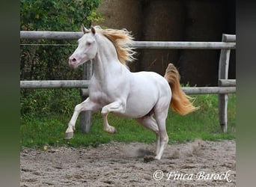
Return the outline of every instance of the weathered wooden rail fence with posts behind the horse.
{"type": "MultiPolygon", "coordinates": [[[[64,31],[20,31],[21,39],[31,40],[77,40],[82,32],[64,31]]],[[[219,94],[219,124],[223,132],[228,130],[228,93],[236,93],[236,80],[228,79],[231,49],[236,49],[236,35],[222,34],[222,42],[160,42],[135,41],[136,49],[221,49],[219,57],[219,86],[182,88],[186,94],[219,94]]],[[[88,96],[88,85],[92,76],[92,61],[84,65],[83,80],[61,81],[20,81],[20,88],[82,88],[82,100],[88,96]]],[[[91,127],[91,111],[80,114],[80,128],[88,132],[91,127]]]]}

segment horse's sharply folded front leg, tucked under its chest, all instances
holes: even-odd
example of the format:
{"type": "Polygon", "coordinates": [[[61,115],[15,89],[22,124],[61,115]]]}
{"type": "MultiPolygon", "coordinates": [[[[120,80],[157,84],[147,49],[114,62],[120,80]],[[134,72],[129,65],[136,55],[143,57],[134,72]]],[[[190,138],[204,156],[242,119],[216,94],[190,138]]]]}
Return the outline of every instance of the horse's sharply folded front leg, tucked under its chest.
{"type": "Polygon", "coordinates": [[[114,126],[110,126],[108,122],[108,114],[109,112],[115,112],[119,114],[123,114],[125,110],[125,105],[121,101],[112,102],[109,105],[103,107],[101,114],[103,116],[103,129],[105,132],[116,133],[117,130],[114,126]]]}

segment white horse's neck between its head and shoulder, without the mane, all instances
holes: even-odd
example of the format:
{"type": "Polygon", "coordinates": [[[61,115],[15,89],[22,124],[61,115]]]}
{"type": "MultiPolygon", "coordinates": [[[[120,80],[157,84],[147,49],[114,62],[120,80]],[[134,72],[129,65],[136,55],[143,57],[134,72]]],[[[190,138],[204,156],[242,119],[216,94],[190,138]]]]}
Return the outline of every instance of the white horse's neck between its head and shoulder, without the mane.
{"type": "Polygon", "coordinates": [[[113,75],[118,76],[123,65],[118,61],[118,55],[113,43],[106,37],[97,36],[98,52],[94,58],[94,77],[106,81],[113,75]]]}

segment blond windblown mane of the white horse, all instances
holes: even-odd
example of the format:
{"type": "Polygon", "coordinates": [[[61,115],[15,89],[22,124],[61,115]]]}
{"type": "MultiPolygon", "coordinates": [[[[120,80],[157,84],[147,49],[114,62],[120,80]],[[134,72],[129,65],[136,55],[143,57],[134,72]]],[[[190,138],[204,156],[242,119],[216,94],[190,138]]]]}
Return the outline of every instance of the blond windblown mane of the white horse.
{"type": "Polygon", "coordinates": [[[133,57],[133,55],[135,55],[135,51],[132,47],[133,37],[131,34],[129,34],[127,29],[102,29],[98,25],[94,28],[96,32],[103,34],[110,41],[112,41],[118,53],[118,60],[121,62],[121,64],[127,65],[127,62],[135,60],[133,57]]]}

